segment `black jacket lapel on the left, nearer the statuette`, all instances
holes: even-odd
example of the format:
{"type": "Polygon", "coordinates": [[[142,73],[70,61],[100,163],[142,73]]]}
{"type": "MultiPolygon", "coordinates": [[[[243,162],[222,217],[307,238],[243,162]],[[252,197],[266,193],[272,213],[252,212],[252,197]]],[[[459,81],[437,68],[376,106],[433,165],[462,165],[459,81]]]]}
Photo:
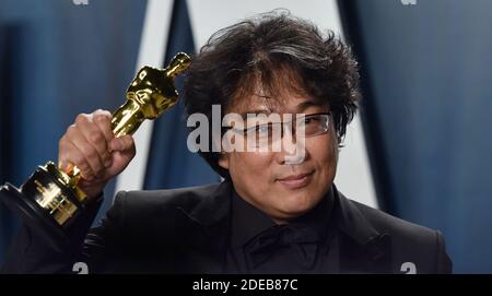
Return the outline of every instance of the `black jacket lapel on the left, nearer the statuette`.
{"type": "Polygon", "coordinates": [[[174,269],[179,273],[222,273],[230,233],[232,183],[223,181],[194,209],[177,208],[174,269]]]}

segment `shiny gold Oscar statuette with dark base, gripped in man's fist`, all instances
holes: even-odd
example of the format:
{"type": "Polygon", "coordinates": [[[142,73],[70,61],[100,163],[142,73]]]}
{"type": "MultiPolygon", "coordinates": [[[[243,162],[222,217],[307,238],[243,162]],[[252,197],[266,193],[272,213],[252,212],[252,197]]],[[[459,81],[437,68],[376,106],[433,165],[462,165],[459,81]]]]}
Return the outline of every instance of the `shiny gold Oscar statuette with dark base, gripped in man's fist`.
{"type": "MultiPolygon", "coordinates": [[[[174,80],[191,60],[178,52],[165,69],[143,67],[127,90],[127,100],[112,117],[115,137],[133,134],[145,119],[155,119],[176,104],[174,80]]],[[[90,204],[78,187],[80,170],[68,173],[52,162],[38,166],[20,189],[7,182],[0,188],[0,200],[17,212],[23,222],[51,246],[68,242],[68,229],[90,204]]]]}

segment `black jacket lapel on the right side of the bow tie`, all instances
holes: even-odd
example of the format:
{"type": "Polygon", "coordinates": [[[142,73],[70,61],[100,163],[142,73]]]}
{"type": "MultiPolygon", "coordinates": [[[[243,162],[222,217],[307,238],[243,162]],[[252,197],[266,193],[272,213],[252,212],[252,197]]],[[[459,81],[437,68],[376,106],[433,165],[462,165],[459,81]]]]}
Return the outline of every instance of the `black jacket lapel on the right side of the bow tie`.
{"type": "Polygon", "coordinates": [[[336,217],[339,229],[337,252],[339,273],[390,273],[390,237],[376,230],[356,205],[338,192],[336,217]]]}

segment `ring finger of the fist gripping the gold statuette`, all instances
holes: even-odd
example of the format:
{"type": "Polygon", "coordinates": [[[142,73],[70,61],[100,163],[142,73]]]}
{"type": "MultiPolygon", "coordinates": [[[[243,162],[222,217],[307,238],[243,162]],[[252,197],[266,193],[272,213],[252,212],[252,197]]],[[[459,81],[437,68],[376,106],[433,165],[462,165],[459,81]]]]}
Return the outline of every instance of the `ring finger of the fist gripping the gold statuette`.
{"type": "MultiPolygon", "coordinates": [[[[85,163],[89,164],[90,169],[84,167],[84,173],[87,177],[94,177],[103,170],[104,164],[97,150],[87,142],[81,131],[74,128],[69,130],[67,135],[67,139],[70,141],[72,146],[75,147],[75,153],[82,155],[85,163]]],[[[75,155],[75,153],[73,153],[72,157],[77,157],[77,161],[80,162],[79,155],[75,155]]],[[[78,163],[75,163],[75,165],[79,167],[78,163]]],[[[79,168],[82,170],[82,167],[79,168]]]]}

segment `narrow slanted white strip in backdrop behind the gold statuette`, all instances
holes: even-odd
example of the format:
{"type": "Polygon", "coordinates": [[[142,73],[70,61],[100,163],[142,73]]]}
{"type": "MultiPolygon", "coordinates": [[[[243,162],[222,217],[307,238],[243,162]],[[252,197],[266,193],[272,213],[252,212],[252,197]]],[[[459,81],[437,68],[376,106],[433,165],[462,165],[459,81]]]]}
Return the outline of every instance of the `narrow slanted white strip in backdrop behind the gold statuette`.
{"type": "MultiPolygon", "coordinates": [[[[149,0],[140,38],[136,73],[143,66],[162,68],[173,14],[173,0],[149,0]]],[[[145,120],[134,133],[137,154],[128,167],[116,178],[115,193],[143,188],[147,162],[152,141],[153,121],[145,120]]]]}

